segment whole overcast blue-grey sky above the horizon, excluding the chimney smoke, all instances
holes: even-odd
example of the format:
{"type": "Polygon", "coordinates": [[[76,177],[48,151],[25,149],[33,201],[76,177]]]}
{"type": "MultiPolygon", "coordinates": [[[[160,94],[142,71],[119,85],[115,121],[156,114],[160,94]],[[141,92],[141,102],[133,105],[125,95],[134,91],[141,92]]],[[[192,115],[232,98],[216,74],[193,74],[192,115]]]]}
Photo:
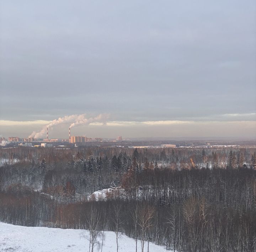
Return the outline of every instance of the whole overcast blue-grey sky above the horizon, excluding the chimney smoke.
{"type": "Polygon", "coordinates": [[[0,83],[6,137],[256,137],[256,2],[2,0],[0,83]]]}

